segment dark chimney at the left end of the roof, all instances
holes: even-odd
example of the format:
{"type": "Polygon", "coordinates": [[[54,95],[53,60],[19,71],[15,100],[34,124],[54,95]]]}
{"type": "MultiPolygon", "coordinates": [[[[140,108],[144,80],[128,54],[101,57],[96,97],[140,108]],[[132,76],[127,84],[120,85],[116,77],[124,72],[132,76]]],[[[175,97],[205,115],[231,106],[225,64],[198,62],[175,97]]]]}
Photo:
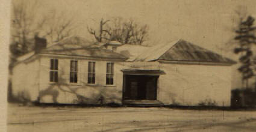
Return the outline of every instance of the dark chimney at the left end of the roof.
{"type": "Polygon", "coordinates": [[[39,34],[36,33],[34,36],[34,40],[35,40],[35,52],[39,53],[42,49],[45,49],[47,46],[47,41],[45,38],[40,38],[39,34]]]}

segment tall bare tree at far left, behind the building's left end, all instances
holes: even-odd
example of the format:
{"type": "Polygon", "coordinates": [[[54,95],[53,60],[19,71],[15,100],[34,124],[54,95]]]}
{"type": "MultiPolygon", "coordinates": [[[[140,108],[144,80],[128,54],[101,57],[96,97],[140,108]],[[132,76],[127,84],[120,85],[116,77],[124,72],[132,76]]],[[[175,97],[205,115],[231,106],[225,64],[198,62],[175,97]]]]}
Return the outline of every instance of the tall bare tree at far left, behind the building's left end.
{"type": "Polygon", "coordinates": [[[13,1],[12,5],[10,49],[14,56],[19,56],[31,49],[29,38],[42,27],[45,19],[36,16],[37,1],[13,1]]]}

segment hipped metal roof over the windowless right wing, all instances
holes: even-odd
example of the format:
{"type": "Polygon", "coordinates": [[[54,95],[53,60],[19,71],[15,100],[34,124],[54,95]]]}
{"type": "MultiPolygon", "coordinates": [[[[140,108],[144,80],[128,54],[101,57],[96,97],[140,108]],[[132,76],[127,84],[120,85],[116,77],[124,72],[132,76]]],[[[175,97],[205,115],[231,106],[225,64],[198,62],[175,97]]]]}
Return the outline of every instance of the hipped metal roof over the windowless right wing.
{"type": "Polygon", "coordinates": [[[141,53],[134,61],[186,61],[236,64],[235,61],[185,40],[158,44],[141,53]]]}

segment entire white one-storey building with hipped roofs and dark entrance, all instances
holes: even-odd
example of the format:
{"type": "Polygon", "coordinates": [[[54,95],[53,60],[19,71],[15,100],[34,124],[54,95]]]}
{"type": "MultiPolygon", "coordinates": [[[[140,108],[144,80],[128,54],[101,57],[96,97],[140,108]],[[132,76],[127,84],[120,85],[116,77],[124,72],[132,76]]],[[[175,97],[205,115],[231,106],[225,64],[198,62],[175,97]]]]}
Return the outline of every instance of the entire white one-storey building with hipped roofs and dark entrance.
{"type": "Polygon", "coordinates": [[[13,95],[39,103],[230,106],[235,63],[184,40],[145,47],[71,37],[20,57],[13,95]]]}

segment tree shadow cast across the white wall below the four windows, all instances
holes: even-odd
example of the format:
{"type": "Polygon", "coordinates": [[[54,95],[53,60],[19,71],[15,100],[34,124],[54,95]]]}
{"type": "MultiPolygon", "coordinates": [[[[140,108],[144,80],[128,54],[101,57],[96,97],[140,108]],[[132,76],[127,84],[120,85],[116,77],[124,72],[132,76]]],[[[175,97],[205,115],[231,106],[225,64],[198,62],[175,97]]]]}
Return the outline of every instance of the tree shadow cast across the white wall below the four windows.
{"type": "MultiPolygon", "coordinates": [[[[60,68],[63,70],[63,68],[60,68]]],[[[67,79],[63,71],[58,74],[58,82],[51,83],[48,88],[39,92],[39,102],[43,97],[49,95],[52,97],[53,104],[61,104],[63,102],[58,101],[61,94],[65,94],[65,98],[72,97],[72,102],[64,104],[116,104],[116,101],[121,100],[116,94],[122,95],[122,91],[114,91],[114,89],[105,89],[103,85],[89,86],[83,81],[79,81],[77,85],[70,85],[67,83],[67,79]],[[88,93],[86,93],[88,92],[88,93]]]]}

